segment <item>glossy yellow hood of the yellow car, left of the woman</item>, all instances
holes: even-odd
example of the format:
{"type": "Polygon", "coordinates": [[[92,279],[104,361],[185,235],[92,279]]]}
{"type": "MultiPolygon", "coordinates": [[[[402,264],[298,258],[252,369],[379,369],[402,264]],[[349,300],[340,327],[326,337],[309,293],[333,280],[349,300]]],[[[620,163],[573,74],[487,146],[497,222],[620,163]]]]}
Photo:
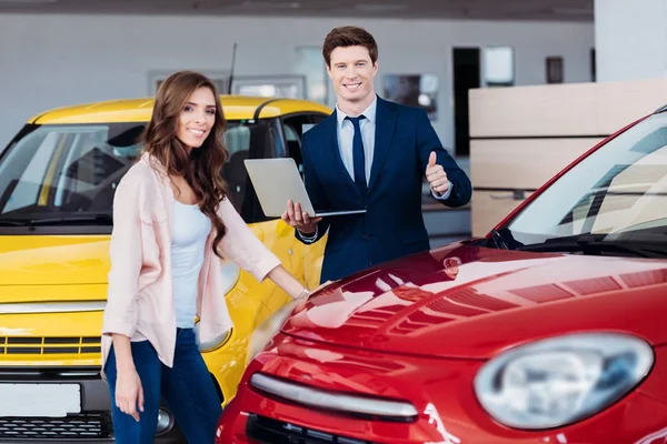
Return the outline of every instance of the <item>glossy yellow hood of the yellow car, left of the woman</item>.
{"type": "Polygon", "coordinates": [[[0,236],[0,302],[106,299],[109,265],[108,235],[0,236]]]}

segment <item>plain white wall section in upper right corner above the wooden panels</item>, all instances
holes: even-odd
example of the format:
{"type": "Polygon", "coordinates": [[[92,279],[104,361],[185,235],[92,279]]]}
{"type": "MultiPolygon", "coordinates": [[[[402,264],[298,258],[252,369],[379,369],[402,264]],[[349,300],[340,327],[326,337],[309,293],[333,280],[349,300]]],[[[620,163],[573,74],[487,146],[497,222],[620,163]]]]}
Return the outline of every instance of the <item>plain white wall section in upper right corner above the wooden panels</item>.
{"type": "Polygon", "coordinates": [[[667,0],[595,0],[599,81],[667,77],[667,0]]]}

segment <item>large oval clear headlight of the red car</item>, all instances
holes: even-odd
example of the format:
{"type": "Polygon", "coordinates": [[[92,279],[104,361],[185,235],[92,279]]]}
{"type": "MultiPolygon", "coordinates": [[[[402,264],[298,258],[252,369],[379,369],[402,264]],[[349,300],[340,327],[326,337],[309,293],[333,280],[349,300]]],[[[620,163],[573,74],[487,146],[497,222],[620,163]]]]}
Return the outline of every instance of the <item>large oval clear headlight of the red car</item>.
{"type": "Polygon", "coordinates": [[[650,371],[653,349],[616,333],[581,333],[519,346],[486,363],[475,379],[482,407],[510,427],[571,424],[608,407],[650,371]]]}

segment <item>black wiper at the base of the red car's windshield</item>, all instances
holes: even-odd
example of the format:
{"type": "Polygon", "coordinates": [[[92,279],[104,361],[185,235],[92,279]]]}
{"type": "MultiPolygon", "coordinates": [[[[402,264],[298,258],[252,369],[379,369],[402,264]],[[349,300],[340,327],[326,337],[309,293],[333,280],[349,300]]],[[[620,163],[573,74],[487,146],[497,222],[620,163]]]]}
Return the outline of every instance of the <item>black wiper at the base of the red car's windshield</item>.
{"type": "Polygon", "coordinates": [[[541,243],[518,246],[520,251],[535,252],[581,252],[599,255],[603,252],[630,253],[639,258],[665,258],[667,245],[656,245],[646,242],[605,241],[605,235],[581,234],[577,236],[547,239],[541,243]]]}

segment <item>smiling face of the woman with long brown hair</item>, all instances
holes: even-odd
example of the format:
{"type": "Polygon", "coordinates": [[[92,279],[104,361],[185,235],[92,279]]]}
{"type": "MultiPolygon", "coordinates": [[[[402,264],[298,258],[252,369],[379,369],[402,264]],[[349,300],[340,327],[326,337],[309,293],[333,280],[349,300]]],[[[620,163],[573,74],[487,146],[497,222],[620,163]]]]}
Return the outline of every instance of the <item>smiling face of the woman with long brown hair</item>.
{"type": "Polygon", "coordinates": [[[216,122],[213,92],[199,88],[188,99],[178,119],[177,137],[188,151],[201,147],[216,122]]]}

